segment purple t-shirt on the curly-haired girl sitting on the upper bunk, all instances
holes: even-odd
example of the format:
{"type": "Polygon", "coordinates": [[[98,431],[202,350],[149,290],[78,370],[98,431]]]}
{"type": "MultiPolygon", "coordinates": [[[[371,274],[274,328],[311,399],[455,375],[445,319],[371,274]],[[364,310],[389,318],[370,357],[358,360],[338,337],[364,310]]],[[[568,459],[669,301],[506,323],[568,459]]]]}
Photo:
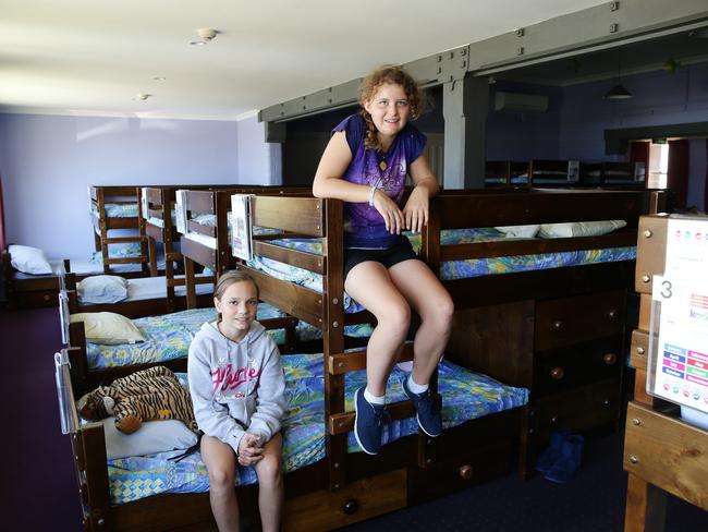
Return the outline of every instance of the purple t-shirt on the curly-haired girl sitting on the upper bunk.
{"type": "MultiPolygon", "coordinates": [[[[376,186],[393,200],[399,207],[408,166],[423,153],[426,136],[413,124],[407,123],[395,135],[389,150],[377,155],[376,149],[366,148],[366,123],[361,114],[345,118],[332,133],[343,131],[352,150],[352,161],[342,179],[356,184],[376,186]],[[386,170],[380,162],[386,161],[386,170]]],[[[344,203],[344,247],[386,249],[405,240],[401,234],[386,230],[381,215],[368,203],[344,203]]]]}

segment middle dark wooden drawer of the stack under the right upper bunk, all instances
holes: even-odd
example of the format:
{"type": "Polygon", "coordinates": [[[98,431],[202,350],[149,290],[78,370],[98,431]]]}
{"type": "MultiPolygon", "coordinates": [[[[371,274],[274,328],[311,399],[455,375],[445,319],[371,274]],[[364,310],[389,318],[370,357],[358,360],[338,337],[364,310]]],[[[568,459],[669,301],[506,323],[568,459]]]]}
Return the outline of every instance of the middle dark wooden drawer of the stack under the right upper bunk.
{"type": "Polygon", "coordinates": [[[554,394],[575,386],[619,376],[622,336],[602,338],[571,348],[536,354],[534,395],[554,394]]]}

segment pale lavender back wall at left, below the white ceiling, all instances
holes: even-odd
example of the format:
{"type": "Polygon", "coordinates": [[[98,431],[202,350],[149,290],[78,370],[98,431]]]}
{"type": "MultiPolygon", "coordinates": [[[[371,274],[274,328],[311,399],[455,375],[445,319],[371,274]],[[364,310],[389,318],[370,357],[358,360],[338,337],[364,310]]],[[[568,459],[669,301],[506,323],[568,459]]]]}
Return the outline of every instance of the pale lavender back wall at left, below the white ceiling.
{"type": "Polygon", "coordinates": [[[237,129],[233,121],[0,114],[8,241],[87,259],[88,185],[237,183],[237,129]]]}

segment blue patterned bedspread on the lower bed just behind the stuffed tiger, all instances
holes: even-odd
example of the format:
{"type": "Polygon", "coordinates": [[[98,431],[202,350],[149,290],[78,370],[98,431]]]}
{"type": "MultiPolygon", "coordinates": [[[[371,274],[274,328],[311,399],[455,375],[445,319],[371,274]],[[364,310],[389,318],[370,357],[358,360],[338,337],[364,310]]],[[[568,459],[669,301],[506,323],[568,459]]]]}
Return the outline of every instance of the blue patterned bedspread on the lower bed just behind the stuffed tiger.
{"type": "MultiPolygon", "coordinates": [[[[282,311],[267,303],[258,305],[258,319],[284,315],[282,311]]],[[[87,342],[88,367],[96,370],[186,358],[194,335],[204,323],[212,322],[216,317],[215,309],[194,309],[133,319],[146,341],[118,346],[87,342]]],[[[285,329],[273,329],[268,334],[279,346],[285,343],[285,329]]],[[[298,322],[295,334],[300,341],[316,340],[322,337],[321,329],[305,322],[298,322]]],[[[371,334],[371,327],[368,324],[347,325],[344,328],[344,334],[352,337],[367,337],[371,334]]]]}

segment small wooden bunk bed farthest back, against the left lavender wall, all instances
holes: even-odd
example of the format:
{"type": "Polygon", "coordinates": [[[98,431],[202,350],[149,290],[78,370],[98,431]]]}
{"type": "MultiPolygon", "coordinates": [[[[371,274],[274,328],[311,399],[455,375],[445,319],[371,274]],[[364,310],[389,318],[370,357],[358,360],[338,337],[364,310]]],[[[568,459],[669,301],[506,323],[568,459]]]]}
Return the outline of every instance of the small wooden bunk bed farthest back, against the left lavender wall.
{"type": "Polygon", "coordinates": [[[141,223],[141,188],[129,185],[89,186],[88,194],[94,241],[96,251],[101,253],[103,273],[110,274],[111,265],[133,264],[141,266],[143,277],[148,276],[147,241],[144,226],[141,223]],[[109,231],[113,230],[133,230],[134,234],[111,237],[109,231]],[[139,255],[110,256],[110,245],[131,243],[139,244],[139,255]]]}

